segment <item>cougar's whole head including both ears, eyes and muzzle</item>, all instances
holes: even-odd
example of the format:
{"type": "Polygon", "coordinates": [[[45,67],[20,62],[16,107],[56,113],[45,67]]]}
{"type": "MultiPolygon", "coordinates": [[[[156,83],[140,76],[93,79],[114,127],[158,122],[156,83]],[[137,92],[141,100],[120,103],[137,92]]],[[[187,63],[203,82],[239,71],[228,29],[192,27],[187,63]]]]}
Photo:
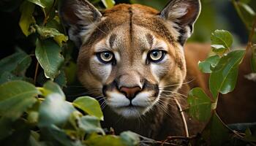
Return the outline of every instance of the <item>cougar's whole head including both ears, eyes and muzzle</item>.
{"type": "Polygon", "coordinates": [[[139,4],[99,12],[89,1],[66,0],[60,11],[80,47],[80,82],[124,118],[144,115],[163,91],[181,87],[183,45],[199,13],[199,0],[172,0],[161,12],[139,4]]]}

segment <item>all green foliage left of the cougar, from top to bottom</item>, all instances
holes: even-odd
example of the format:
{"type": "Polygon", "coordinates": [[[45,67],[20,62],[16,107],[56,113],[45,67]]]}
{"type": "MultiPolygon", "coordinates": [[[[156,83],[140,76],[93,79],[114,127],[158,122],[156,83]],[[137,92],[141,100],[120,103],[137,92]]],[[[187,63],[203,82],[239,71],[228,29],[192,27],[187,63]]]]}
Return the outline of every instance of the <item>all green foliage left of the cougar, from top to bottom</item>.
{"type": "MultiPolygon", "coordinates": [[[[113,0],[102,3],[114,5],[113,0]]],[[[0,61],[0,145],[138,145],[140,139],[132,132],[106,134],[96,99],[81,96],[66,101],[61,87],[74,69],[67,64],[72,59],[72,42],[57,10],[58,1],[24,0],[20,4],[19,26],[26,37],[34,37],[37,67],[33,82],[26,77],[31,55],[18,49],[0,61]],[[38,75],[39,66],[44,76],[38,75]],[[43,86],[33,85],[37,83],[43,86]]]]}

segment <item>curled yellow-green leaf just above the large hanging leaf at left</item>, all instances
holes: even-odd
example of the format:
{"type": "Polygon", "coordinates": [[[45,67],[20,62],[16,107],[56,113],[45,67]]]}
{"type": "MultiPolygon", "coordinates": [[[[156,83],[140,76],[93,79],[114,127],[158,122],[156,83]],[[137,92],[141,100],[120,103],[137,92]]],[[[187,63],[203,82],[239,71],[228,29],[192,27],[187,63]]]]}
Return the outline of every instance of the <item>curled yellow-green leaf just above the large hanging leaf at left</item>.
{"type": "Polygon", "coordinates": [[[61,34],[56,28],[48,28],[45,26],[36,26],[37,33],[40,35],[41,39],[48,39],[53,37],[55,42],[62,46],[63,42],[67,42],[68,37],[61,34]]]}

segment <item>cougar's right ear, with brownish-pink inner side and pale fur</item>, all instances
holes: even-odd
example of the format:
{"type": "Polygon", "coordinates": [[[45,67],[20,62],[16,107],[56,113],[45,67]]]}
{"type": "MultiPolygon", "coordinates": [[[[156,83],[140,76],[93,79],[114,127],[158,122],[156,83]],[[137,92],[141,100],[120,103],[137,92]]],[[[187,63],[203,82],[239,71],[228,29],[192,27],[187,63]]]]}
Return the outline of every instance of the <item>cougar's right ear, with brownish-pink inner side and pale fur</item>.
{"type": "Polygon", "coordinates": [[[178,42],[181,45],[187,41],[193,32],[195,20],[200,14],[200,0],[170,0],[160,13],[165,20],[170,20],[178,25],[180,33],[178,42]]]}

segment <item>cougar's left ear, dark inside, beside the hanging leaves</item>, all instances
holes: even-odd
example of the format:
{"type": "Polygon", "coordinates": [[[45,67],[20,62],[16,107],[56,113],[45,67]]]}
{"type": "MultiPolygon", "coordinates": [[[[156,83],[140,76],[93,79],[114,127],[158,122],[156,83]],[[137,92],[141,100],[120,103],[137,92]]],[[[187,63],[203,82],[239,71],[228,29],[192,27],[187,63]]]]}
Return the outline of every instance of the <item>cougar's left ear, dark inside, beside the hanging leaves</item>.
{"type": "Polygon", "coordinates": [[[102,18],[99,10],[87,0],[63,0],[59,9],[61,20],[69,27],[69,38],[78,47],[102,18]]]}

